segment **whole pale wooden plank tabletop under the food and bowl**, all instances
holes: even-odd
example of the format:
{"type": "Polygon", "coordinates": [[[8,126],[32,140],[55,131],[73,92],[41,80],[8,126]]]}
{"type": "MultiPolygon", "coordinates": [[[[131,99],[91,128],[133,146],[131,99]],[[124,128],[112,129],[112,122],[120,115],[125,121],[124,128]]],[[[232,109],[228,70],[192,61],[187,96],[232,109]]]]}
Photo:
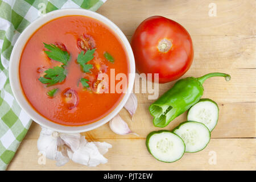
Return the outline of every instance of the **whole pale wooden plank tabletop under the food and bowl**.
{"type": "MultiPolygon", "coordinates": [[[[89,168],[69,162],[56,167],[46,160],[38,164],[36,142],[40,126],[32,123],[9,170],[255,170],[256,168],[256,2],[251,1],[156,1],[108,0],[97,11],[121,28],[130,40],[135,28],[152,15],[163,15],[182,24],[192,36],[195,56],[192,67],[183,76],[201,76],[209,72],[224,72],[232,76],[210,78],[204,84],[203,98],[211,98],[220,107],[218,125],[212,132],[208,146],[195,154],[185,154],[175,163],[155,160],[147,151],[145,138],[158,128],[152,125],[148,106],[152,100],[147,94],[137,94],[138,109],[131,122],[126,110],[121,116],[130,128],[139,134],[114,134],[109,125],[84,133],[88,140],[109,142],[113,148],[105,155],[107,164],[89,168]],[[217,16],[209,16],[210,3],[216,3],[217,16]],[[216,163],[210,159],[216,154],[216,163]],[[210,162],[209,162],[210,161],[210,162]]],[[[159,94],[171,88],[174,82],[159,86],[159,94]]],[[[180,115],[166,127],[171,130],[185,121],[180,115]]]]}

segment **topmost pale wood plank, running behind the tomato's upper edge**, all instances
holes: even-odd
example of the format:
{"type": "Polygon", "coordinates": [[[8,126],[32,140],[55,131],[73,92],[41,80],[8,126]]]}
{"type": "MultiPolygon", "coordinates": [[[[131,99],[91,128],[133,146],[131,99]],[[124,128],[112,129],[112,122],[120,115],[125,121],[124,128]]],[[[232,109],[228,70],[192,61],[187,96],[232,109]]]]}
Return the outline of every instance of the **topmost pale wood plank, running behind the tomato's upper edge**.
{"type": "Polygon", "coordinates": [[[179,22],[191,35],[255,35],[255,6],[254,0],[117,0],[107,1],[97,12],[126,35],[133,35],[139,23],[154,15],[179,22]],[[209,16],[210,3],[216,3],[217,16],[209,16]]]}

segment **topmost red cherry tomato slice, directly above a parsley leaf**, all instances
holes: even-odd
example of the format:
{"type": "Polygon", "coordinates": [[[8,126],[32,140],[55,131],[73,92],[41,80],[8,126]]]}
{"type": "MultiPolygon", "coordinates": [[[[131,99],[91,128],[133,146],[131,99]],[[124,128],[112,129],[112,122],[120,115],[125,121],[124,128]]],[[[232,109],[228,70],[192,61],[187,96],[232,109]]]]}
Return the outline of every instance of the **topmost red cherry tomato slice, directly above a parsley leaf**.
{"type": "Polygon", "coordinates": [[[87,50],[95,48],[96,44],[92,36],[84,34],[83,36],[77,39],[77,47],[81,51],[86,52],[87,50]]]}

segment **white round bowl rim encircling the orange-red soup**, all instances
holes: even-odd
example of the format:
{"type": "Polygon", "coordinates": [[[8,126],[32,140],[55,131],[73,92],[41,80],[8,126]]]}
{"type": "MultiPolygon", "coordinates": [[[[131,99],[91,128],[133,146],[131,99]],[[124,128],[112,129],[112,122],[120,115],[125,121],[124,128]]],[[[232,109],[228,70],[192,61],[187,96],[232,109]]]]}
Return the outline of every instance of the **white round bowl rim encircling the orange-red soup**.
{"type": "Polygon", "coordinates": [[[118,114],[118,112],[122,109],[122,107],[125,105],[126,101],[128,100],[131,90],[133,89],[134,84],[134,78],[135,78],[135,62],[134,62],[134,56],[133,51],[130,47],[130,44],[128,40],[126,39],[126,36],[123,34],[123,32],[108,18],[105,16],[102,16],[98,13],[95,13],[93,11],[84,10],[84,9],[63,9],[63,10],[56,10],[52,11],[51,13],[47,13],[45,16],[36,19],[33,23],[31,23],[19,36],[17,42],[14,45],[13,52],[11,53],[10,58],[10,67],[9,67],[9,76],[10,76],[10,85],[11,89],[13,90],[14,97],[16,98],[16,101],[22,107],[24,111],[33,119],[35,122],[37,122],[39,125],[42,125],[44,127],[47,127],[49,129],[64,132],[64,133],[80,133],[84,131],[89,131],[96,129],[97,127],[104,125],[106,122],[110,121],[115,115],[118,114]],[[127,86],[127,92],[124,94],[122,100],[119,102],[119,104],[113,109],[108,115],[106,115],[104,118],[101,118],[100,120],[90,123],[88,125],[83,126],[64,126],[59,125],[57,123],[54,123],[52,121],[49,121],[47,118],[42,117],[42,115],[38,114],[30,105],[30,103],[27,101],[26,97],[24,96],[22,86],[20,84],[20,78],[19,78],[19,61],[20,61],[20,55],[23,51],[23,48],[27,42],[27,40],[30,38],[30,36],[38,30],[39,27],[41,27],[43,24],[49,22],[52,19],[66,16],[66,15],[84,15],[89,16],[91,18],[100,20],[100,22],[106,24],[114,33],[118,36],[118,38],[123,43],[123,47],[125,48],[126,54],[128,56],[129,60],[129,82],[127,86]]]}

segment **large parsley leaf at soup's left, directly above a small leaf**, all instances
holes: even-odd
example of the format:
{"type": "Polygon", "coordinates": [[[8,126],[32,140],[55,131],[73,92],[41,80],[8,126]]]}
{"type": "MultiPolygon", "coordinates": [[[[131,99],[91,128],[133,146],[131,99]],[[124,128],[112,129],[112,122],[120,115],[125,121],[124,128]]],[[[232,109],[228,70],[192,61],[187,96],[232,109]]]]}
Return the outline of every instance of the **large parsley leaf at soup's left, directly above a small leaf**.
{"type": "Polygon", "coordinates": [[[66,77],[65,69],[63,67],[49,68],[44,73],[46,73],[46,75],[40,77],[39,81],[42,82],[42,84],[47,84],[47,86],[62,82],[66,77]]]}

